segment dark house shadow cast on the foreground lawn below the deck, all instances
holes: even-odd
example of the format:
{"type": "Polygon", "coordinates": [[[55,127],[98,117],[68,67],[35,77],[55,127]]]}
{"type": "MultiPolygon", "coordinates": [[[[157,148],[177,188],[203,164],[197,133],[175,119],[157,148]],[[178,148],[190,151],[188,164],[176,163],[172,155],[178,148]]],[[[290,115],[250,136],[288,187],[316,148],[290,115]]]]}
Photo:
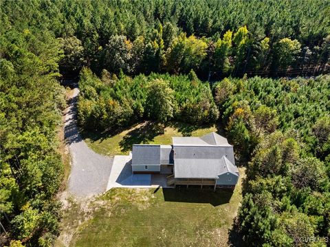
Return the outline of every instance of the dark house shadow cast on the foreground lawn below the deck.
{"type": "Polygon", "coordinates": [[[231,189],[213,189],[208,187],[177,187],[175,189],[163,189],[164,200],[166,202],[192,202],[209,203],[214,207],[226,204],[232,198],[231,189]]]}

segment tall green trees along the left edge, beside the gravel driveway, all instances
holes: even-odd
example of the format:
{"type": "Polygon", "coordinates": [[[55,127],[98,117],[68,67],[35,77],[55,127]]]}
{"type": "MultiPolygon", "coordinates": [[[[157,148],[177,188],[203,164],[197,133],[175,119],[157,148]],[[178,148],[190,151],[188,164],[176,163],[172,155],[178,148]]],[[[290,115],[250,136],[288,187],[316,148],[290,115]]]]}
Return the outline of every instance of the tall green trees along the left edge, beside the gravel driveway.
{"type": "Polygon", "coordinates": [[[0,38],[0,245],[52,246],[61,219],[58,152],[65,91],[50,32],[0,38]]]}

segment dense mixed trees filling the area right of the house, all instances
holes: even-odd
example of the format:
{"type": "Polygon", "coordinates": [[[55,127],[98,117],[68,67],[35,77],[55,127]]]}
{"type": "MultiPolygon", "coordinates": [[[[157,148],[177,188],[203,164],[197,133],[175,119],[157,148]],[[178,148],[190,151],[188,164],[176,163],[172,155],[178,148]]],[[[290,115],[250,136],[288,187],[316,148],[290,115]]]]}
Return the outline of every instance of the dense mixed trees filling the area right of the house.
{"type": "Polygon", "coordinates": [[[220,121],[247,169],[234,231],[256,246],[325,244],[330,231],[330,77],[225,78],[220,121]],[[307,242],[305,242],[307,241],[307,242]]]}

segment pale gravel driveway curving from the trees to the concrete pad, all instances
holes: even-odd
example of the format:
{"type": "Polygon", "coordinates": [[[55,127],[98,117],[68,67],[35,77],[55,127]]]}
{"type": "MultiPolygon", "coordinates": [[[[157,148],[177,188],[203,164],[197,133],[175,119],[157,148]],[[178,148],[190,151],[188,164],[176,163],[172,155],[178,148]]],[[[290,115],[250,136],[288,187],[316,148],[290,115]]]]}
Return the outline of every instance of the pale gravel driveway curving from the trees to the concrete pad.
{"type": "Polygon", "coordinates": [[[72,155],[68,191],[75,196],[93,196],[106,190],[113,158],[96,154],[80,137],[76,125],[78,86],[73,90],[65,115],[65,141],[72,155]]]}

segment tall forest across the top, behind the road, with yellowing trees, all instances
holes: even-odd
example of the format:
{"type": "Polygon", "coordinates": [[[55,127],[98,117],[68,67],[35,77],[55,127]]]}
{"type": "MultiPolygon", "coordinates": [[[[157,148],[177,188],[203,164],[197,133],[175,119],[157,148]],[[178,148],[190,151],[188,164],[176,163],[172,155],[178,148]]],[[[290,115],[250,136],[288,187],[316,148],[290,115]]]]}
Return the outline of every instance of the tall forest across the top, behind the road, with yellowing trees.
{"type": "Polygon", "coordinates": [[[3,30],[49,30],[65,76],[189,73],[305,75],[329,71],[329,1],[3,1],[3,30]],[[32,18],[31,16],[36,16],[32,18]]]}

